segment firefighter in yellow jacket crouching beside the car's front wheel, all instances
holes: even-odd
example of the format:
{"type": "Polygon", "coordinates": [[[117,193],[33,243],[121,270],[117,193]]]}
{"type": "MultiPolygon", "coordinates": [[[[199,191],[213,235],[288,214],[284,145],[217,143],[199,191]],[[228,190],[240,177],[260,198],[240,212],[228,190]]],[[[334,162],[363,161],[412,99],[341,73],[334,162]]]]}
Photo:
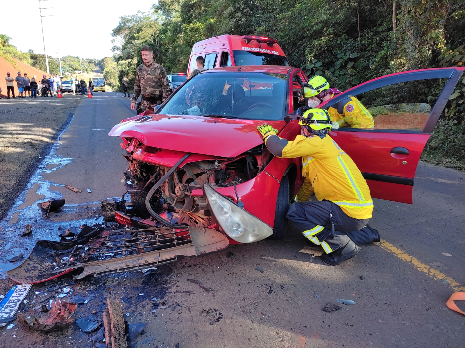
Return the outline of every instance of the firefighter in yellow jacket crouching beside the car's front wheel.
{"type": "Polygon", "coordinates": [[[312,243],[325,251],[324,262],[337,265],[352,258],[358,245],[379,241],[379,233],[367,227],[373,200],[359,169],[328,135],[328,111],[310,109],[300,118],[301,135],[281,139],[270,125],[259,126],[266,147],[275,156],[302,157],[302,187],[287,212],[287,219],[312,243]],[[308,201],[312,193],[318,201],[308,201]]]}

